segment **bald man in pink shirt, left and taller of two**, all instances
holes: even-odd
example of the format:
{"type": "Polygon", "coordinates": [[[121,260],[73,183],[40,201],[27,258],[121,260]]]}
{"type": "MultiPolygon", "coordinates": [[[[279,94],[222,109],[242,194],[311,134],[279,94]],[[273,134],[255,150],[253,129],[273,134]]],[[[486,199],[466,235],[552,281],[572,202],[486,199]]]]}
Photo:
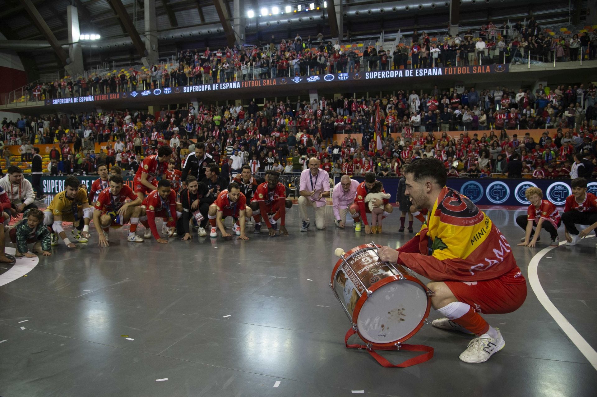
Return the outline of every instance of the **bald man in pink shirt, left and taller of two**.
{"type": "Polygon", "coordinates": [[[316,157],[309,159],[309,168],[300,174],[300,197],[298,197],[298,209],[303,221],[300,231],[309,229],[309,215],[307,207],[315,210],[315,226],[318,229],[325,228],[325,204],[326,198],[330,197],[330,176],[327,171],[319,168],[319,160],[316,157]]]}

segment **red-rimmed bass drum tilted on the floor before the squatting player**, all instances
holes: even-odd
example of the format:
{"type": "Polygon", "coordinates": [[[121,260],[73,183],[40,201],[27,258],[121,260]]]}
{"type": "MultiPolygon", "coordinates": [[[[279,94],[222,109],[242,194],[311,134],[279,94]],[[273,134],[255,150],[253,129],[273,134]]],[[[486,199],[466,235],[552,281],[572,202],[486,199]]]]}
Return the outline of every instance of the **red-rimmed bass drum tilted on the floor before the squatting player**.
{"type": "Polygon", "coordinates": [[[330,287],[359,337],[390,347],[413,336],[429,315],[429,290],[410,269],[381,262],[380,246],[363,244],[334,266],[330,287]]]}

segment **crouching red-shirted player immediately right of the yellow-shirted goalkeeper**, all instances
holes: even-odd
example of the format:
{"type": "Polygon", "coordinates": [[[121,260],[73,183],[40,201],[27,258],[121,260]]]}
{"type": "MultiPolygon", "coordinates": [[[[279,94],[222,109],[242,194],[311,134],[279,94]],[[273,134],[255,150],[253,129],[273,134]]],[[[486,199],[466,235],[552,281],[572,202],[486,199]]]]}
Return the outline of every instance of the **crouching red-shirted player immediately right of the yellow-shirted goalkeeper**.
{"type": "MultiPolygon", "coordinates": [[[[102,190],[97,197],[95,209],[93,212],[93,224],[96,225],[97,235],[99,235],[100,247],[107,247],[109,237],[109,228],[119,228],[136,221],[139,224],[141,213],[141,199],[137,197],[133,189],[124,184],[122,176],[110,176],[110,185],[102,190]],[[131,201],[126,203],[127,198],[131,201]]],[[[133,231],[128,232],[127,241],[142,243],[143,238],[139,237],[133,231]]]]}

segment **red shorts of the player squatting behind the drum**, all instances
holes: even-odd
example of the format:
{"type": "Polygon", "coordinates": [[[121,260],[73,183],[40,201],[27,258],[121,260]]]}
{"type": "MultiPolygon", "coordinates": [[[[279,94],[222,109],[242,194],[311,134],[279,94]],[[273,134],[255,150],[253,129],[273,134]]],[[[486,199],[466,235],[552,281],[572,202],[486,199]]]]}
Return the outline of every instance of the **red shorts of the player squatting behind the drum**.
{"type": "Polygon", "coordinates": [[[506,274],[484,281],[444,281],[458,302],[482,314],[503,314],[518,309],[527,297],[527,280],[516,266],[506,274]]]}

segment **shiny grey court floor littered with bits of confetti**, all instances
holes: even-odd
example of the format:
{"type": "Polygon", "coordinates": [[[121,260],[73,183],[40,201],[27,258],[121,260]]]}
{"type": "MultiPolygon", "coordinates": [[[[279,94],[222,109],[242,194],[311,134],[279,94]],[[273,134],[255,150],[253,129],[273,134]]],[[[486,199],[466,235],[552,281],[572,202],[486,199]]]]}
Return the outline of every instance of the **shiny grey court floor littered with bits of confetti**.
{"type": "MultiPolygon", "coordinates": [[[[72,251],[56,247],[0,287],[0,396],[595,396],[597,371],[530,286],[521,309],[486,317],[506,347],[484,364],[458,360],[469,336],[431,325],[407,342],[435,348],[414,367],[383,368],[344,348],[349,322],[328,287],[334,248],[396,246],[411,235],[398,233],[398,213],[381,235],[330,223],[301,233],[297,212],[287,216],[287,238],[134,244],[121,229],[107,249],[97,237],[72,251]]],[[[488,211],[527,277],[548,236],[537,249],[516,247],[519,213],[488,211]]],[[[593,349],[595,242],[559,246],[538,263],[549,300],[593,349]]]]}

